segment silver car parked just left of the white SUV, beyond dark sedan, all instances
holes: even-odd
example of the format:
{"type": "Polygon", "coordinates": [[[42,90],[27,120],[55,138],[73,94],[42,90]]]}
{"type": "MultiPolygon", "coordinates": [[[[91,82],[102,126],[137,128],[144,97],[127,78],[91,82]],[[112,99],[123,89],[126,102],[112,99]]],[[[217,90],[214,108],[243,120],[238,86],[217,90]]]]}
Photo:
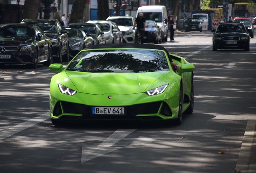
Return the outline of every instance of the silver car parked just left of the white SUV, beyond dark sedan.
{"type": "Polygon", "coordinates": [[[123,42],[123,34],[116,23],[105,20],[89,20],[86,23],[99,25],[101,31],[104,32],[106,44],[120,44],[123,42]]]}

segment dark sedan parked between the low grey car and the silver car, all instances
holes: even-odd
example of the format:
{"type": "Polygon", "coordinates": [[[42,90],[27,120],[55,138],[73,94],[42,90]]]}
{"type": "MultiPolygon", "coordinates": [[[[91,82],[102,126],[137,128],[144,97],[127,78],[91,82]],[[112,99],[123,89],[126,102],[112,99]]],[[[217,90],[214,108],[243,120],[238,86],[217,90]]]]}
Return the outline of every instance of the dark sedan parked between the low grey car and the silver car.
{"type": "Polygon", "coordinates": [[[88,24],[88,23],[70,23],[67,28],[80,28],[85,32],[85,34],[91,34],[93,38],[94,45],[97,44],[106,44],[104,37],[104,32],[101,31],[97,24],[88,24]]]}

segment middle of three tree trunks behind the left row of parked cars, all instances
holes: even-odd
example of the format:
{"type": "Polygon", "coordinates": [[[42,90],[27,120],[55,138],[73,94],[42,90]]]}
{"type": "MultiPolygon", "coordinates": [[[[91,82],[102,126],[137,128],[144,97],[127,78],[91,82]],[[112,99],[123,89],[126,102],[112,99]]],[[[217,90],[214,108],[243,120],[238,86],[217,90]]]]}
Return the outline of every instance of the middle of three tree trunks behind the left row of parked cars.
{"type": "Polygon", "coordinates": [[[86,0],[74,0],[68,23],[83,22],[86,0]]]}

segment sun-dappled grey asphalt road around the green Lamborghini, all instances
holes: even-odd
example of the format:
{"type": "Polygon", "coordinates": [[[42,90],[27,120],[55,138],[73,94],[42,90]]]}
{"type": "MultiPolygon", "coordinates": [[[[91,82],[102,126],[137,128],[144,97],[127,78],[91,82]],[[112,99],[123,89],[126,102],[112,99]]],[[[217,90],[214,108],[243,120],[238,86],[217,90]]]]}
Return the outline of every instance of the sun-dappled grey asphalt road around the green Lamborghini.
{"type": "Polygon", "coordinates": [[[175,42],[161,44],[196,67],[194,112],[184,115],[180,126],[120,122],[54,126],[49,119],[49,86],[56,73],[44,66],[36,70],[5,66],[0,70],[0,172],[248,171],[255,164],[255,153],[248,154],[252,147],[244,145],[246,137],[253,139],[250,132],[254,134],[256,123],[256,38],[251,39],[249,52],[213,52],[212,34],[175,33],[175,42]]]}

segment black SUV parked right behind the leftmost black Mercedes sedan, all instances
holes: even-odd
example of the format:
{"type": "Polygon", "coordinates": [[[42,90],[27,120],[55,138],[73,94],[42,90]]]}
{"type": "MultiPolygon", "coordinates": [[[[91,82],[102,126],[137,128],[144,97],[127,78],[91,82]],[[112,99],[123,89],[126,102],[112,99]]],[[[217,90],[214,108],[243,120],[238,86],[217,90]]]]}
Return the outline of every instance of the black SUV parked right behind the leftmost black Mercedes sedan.
{"type": "Polygon", "coordinates": [[[62,29],[57,19],[23,19],[21,23],[37,25],[51,39],[52,56],[55,63],[62,63],[62,60],[68,61],[68,34],[66,30],[62,29]]]}

